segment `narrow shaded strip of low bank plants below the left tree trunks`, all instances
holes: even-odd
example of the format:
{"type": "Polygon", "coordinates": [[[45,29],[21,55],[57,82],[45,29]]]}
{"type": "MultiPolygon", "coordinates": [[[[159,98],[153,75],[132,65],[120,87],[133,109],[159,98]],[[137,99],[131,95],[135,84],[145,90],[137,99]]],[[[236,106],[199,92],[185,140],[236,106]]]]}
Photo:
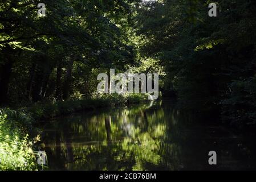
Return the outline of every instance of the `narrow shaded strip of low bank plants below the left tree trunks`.
{"type": "Polygon", "coordinates": [[[102,107],[112,107],[119,105],[139,104],[147,100],[143,94],[128,95],[105,95],[100,98],[89,98],[81,100],[57,101],[54,103],[39,103],[31,107],[25,107],[35,120],[58,117],[59,115],[71,114],[77,111],[99,109],[102,107]]]}

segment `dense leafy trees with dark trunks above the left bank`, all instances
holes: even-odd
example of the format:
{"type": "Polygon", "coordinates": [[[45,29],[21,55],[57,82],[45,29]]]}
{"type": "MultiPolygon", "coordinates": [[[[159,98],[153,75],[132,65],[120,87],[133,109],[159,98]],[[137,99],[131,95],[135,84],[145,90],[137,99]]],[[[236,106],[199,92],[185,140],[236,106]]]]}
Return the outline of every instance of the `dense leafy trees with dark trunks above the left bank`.
{"type": "Polygon", "coordinates": [[[1,105],[92,97],[97,74],[135,63],[131,1],[44,1],[44,17],[38,3],[0,5],[1,105]]]}

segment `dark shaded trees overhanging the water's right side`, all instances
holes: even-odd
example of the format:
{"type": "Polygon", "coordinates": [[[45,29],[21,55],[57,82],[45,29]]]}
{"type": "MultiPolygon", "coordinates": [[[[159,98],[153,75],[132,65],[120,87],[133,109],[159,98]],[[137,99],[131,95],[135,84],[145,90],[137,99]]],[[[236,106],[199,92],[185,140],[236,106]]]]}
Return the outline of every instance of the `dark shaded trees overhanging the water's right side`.
{"type": "Polygon", "coordinates": [[[141,52],[161,60],[164,92],[177,93],[182,107],[215,108],[225,121],[255,123],[256,3],[217,1],[217,17],[208,15],[209,3],[146,3],[137,17],[141,52]]]}

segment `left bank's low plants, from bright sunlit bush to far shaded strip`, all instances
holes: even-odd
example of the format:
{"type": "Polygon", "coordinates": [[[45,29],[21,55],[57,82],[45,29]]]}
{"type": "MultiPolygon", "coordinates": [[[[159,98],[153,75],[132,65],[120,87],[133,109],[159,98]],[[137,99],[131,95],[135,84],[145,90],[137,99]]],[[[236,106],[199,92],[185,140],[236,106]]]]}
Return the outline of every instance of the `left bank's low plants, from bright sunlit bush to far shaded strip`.
{"type": "MultiPolygon", "coordinates": [[[[95,99],[40,102],[16,110],[0,112],[0,170],[35,170],[36,159],[32,150],[37,135],[34,124],[40,119],[58,117],[76,111],[139,104],[147,100],[142,94],[107,95],[95,99]]],[[[37,137],[38,138],[38,137],[37,137]]],[[[36,150],[36,148],[34,148],[36,150]]]]}

